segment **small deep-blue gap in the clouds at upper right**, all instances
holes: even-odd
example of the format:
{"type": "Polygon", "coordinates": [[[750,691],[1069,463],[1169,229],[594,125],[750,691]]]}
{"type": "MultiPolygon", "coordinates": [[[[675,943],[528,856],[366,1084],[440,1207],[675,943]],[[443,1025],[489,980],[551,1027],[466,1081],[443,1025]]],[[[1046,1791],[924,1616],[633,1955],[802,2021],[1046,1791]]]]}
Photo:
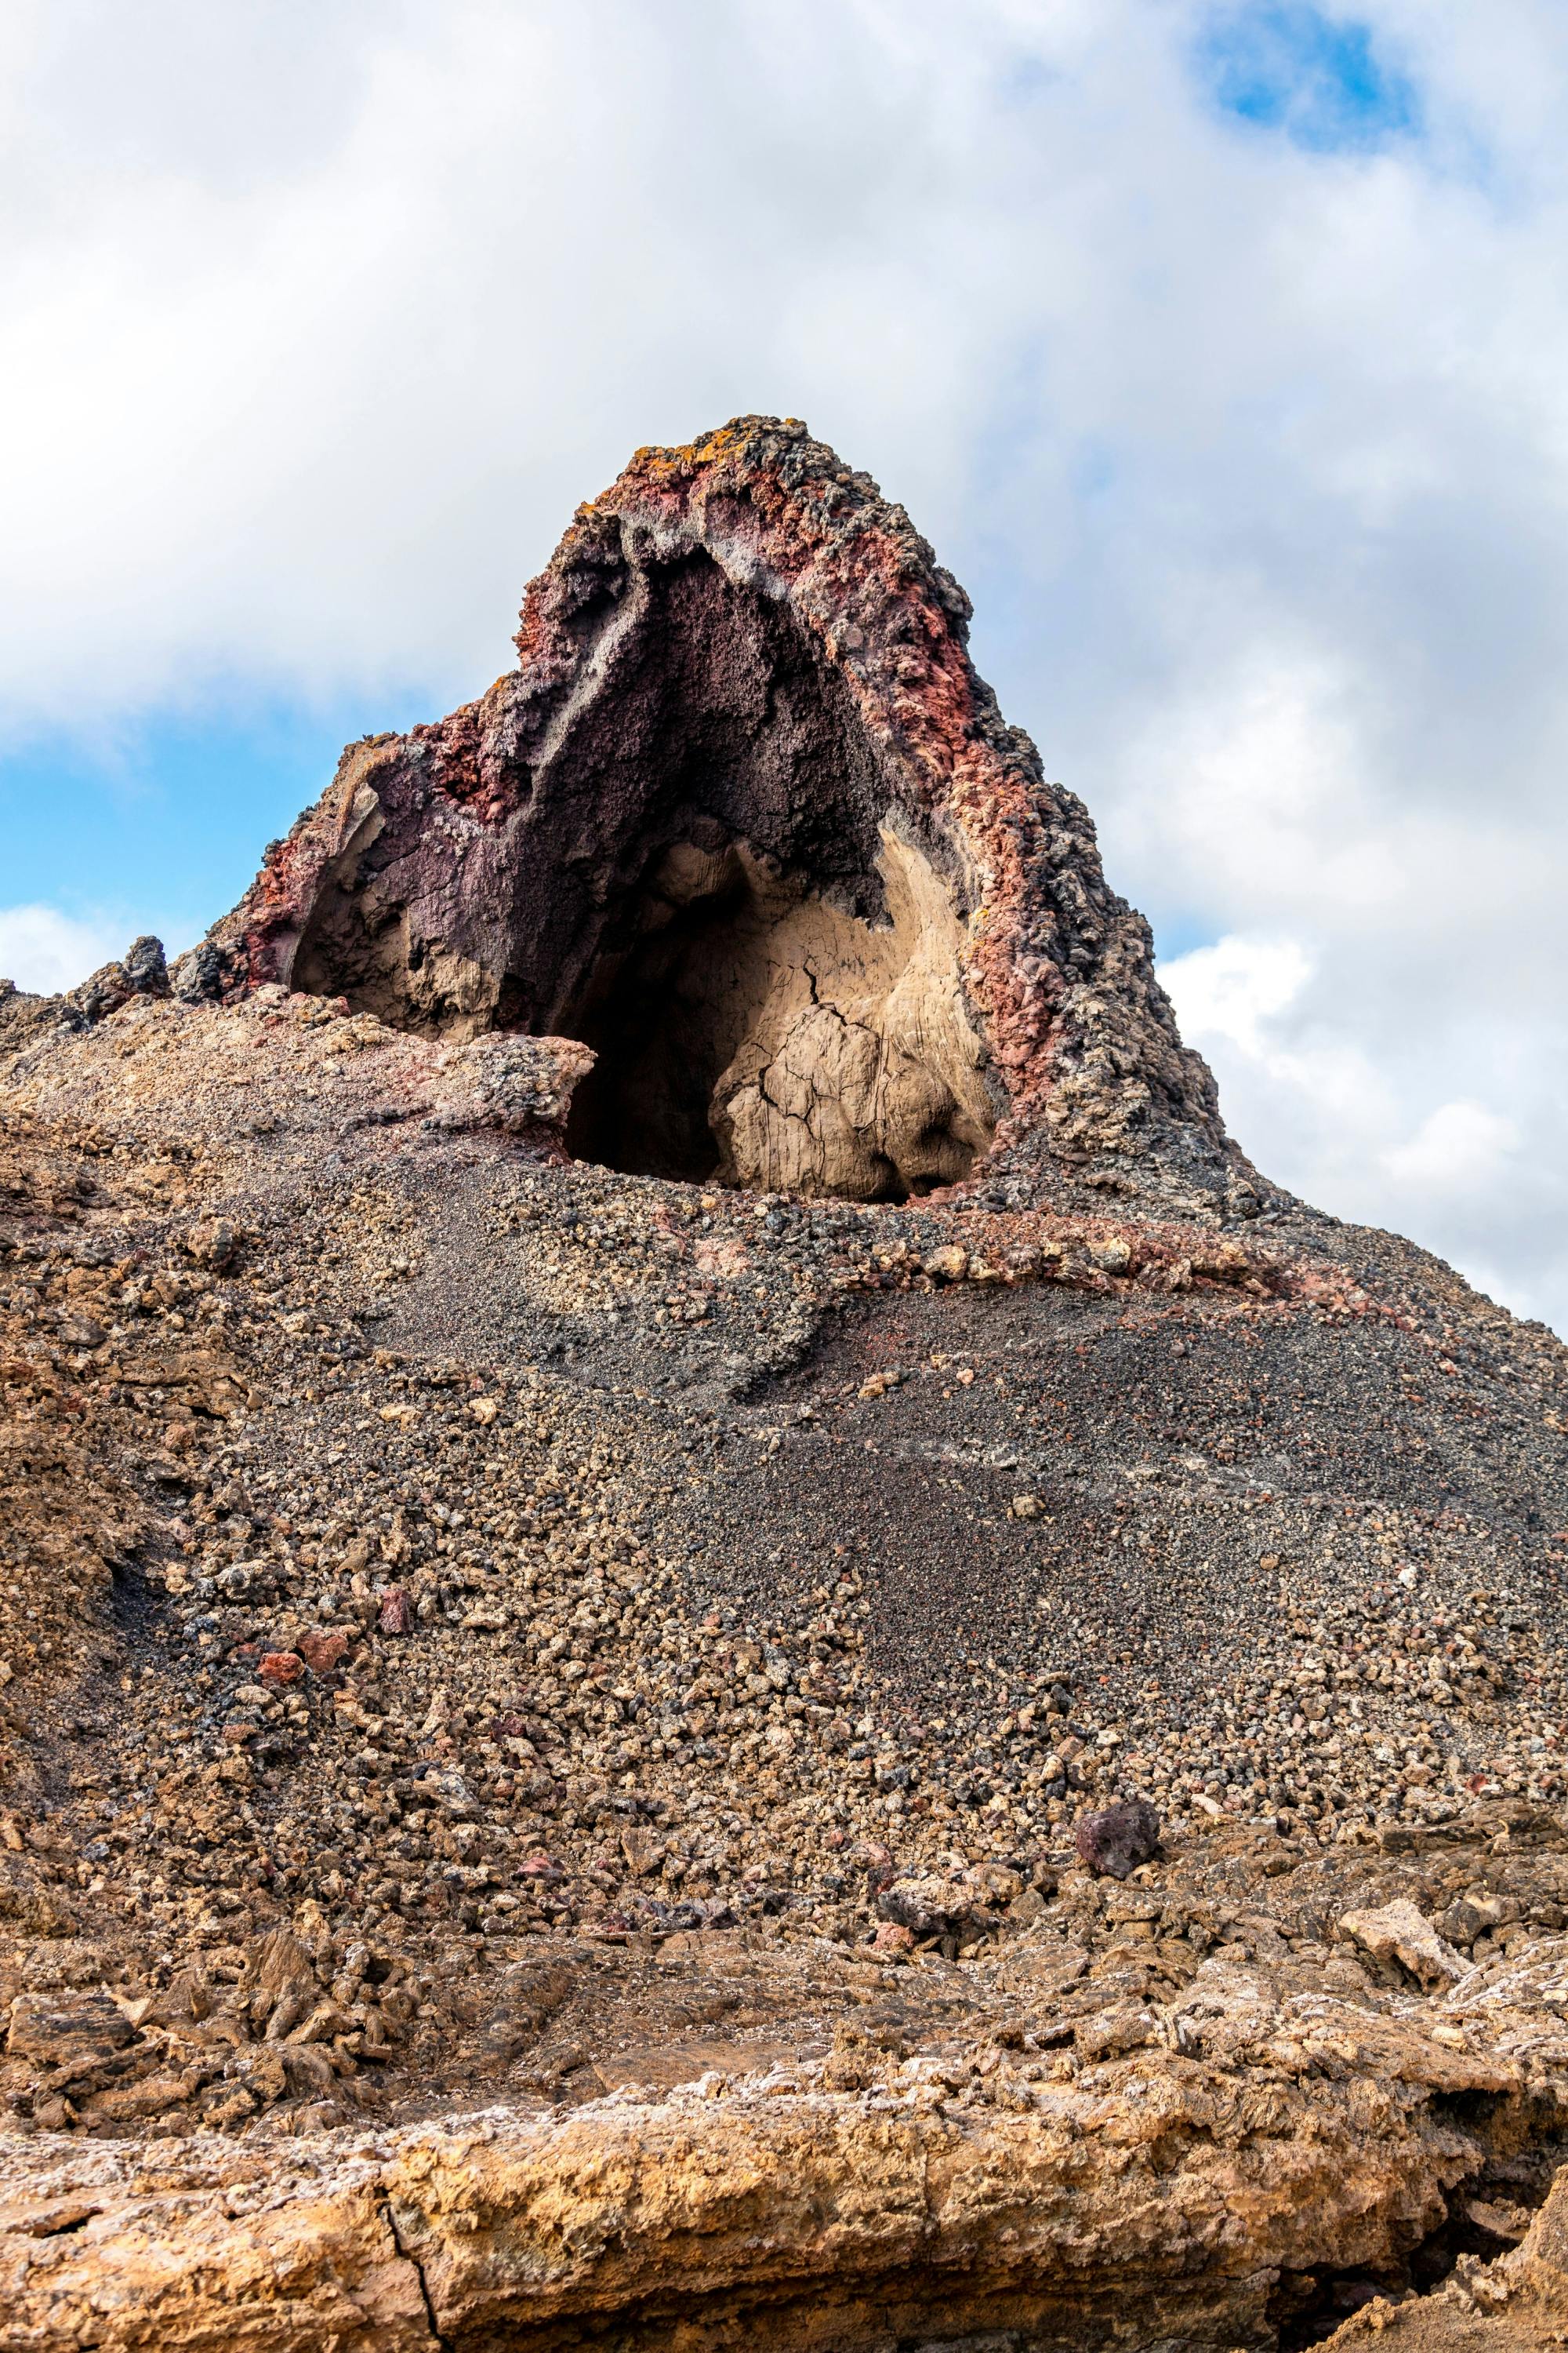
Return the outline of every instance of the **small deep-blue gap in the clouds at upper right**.
{"type": "Polygon", "coordinates": [[[1220,12],[1199,40],[1197,68],[1222,113],[1316,155],[1420,129],[1415,85],[1378,54],[1371,26],[1295,0],[1220,12]]]}

